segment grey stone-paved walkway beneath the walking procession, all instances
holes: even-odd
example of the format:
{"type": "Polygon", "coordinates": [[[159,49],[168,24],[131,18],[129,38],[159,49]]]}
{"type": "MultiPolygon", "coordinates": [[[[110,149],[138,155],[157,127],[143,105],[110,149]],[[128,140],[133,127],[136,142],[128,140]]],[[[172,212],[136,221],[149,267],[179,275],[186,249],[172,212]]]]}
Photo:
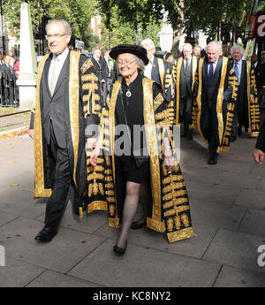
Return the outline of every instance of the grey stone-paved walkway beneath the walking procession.
{"type": "Polygon", "coordinates": [[[169,244],[162,233],[132,230],[118,257],[112,253],[118,231],[107,225],[106,213],[77,222],[70,204],[54,240],[36,243],[46,201],[32,199],[33,141],[27,135],[1,140],[0,286],[265,286],[265,267],[258,264],[265,245],[265,165],[254,164],[254,143],[240,137],[218,164],[208,165],[199,134],[183,140],[180,164],[198,236],[169,244]]]}

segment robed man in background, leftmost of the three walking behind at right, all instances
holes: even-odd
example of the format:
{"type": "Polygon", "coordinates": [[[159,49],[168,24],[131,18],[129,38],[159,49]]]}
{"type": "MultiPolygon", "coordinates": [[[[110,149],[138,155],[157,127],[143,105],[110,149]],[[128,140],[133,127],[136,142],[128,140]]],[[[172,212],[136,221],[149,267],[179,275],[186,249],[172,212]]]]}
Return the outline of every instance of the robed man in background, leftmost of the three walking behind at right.
{"type": "Polygon", "coordinates": [[[178,57],[173,68],[176,85],[176,123],[182,122],[184,124],[182,137],[193,140],[193,86],[198,60],[197,57],[193,56],[193,46],[190,43],[184,44],[182,52],[183,57],[178,57]]]}

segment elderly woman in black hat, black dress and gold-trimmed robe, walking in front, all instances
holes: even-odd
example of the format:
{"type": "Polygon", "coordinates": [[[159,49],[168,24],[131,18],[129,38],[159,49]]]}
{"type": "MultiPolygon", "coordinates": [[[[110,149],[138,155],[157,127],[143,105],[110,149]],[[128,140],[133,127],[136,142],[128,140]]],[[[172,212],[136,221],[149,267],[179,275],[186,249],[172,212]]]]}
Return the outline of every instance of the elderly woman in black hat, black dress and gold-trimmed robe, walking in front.
{"type": "Polygon", "coordinates": [[[121,227],[113,251],[124,255],[131,227],[147,225],[167,233],[170,242],[193,236],[193,227],[162,88],[141,73],[148,65],[147,51],[122,44],[110,51],[110,57],[117,60],[122,78],[113,85],[102,111],[101,135],[90,164],[99,165],[102,149],[105,158],[100,161],[105,173],[102,188],[109,224],[121,227]],[[122,135],[117,130],[122,130],[122,135]],[[119,141],[121,137],[123,141],[119,141]],[[144,215],[133,222],[138,202],[144,215]]]}

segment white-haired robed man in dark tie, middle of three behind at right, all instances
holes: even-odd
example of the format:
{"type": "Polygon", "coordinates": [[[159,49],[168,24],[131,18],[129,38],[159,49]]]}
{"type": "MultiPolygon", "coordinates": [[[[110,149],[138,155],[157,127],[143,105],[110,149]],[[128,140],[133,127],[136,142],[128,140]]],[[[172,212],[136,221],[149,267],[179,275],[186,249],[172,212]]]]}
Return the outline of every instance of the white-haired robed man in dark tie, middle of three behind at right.
{"type": "Polygon", "coordinates": [[[207,57],[199,61],[195,84],[196,116],[203,140],[208,142],[208,164],[216,164],[218,153],[229,149],[237,80],[227,57],[221,56],[219,42],[209,42],[207,57]]]}

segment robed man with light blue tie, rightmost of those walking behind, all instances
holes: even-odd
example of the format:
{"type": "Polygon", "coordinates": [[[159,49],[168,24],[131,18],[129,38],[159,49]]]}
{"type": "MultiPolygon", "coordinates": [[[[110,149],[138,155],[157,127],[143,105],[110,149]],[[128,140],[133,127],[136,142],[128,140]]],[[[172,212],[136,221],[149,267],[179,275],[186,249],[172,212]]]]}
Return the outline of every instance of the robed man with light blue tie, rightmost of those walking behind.
{"type": "Polygon", "coordinates": [[[257,101],[255,72],[251,67],[251,62],[243,60],[243,56],[244,50],[241,46],[234,45],[231,48],[233,67],[239,81],[232,140],[235,140],[237,135],[242,134],[242,126],[253,137],[256,137],[260,130],[260,111],[257,101]],[[237,125],[239,125],[238,128],[237,125]]]}

